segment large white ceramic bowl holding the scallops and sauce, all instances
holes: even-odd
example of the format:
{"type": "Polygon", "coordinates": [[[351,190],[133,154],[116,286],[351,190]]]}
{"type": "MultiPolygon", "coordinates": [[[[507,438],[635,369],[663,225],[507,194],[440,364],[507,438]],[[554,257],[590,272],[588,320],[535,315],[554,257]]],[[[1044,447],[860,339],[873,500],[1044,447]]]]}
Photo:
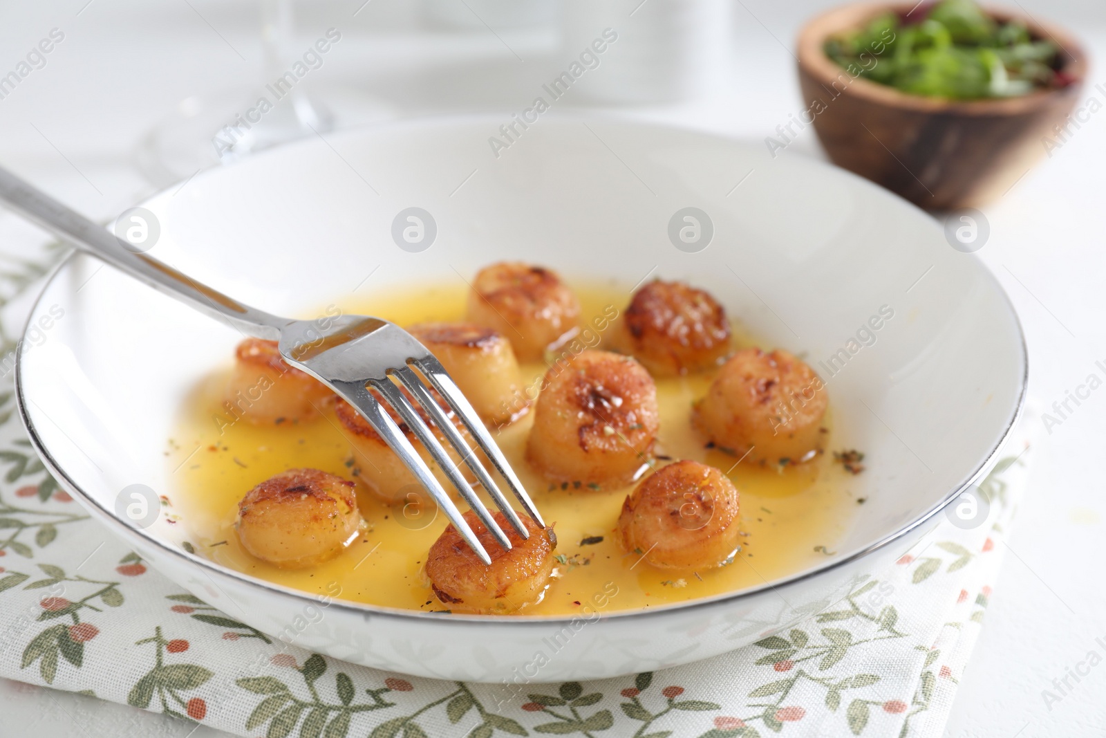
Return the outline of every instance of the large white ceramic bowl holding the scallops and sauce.
{"type": "Polygon", "coordinates": [[[41,345],[24,343],[18,367],[23,419],[59,481],[166,576],[296,645],[431,677],[563,680],[703,658],[825,609],[906,552],[995,458],[1025,387],[1021,329],[994,278],[924,212],[825,164],[625,122],[546,114],[497,158],[488,138],[504,122],[352,132],[207,171],[146,204],[161,227],[152,254],[303,316],[358,288],[458,280],[504,258],[627,285],[688,279],[828,380],[836,438],[868,455],[856,478],[868,502],[835,555],[594,622],[320,603],[212,564],[181,549],[187,520],[139,530],[114,508],[128,485],[171,488],[163,451],[182,398],[241,336],[83,256],[45,288],[34,315],[58,305],[64,318],[41,345]],[[438,228],[419,253],[390,238],[411,206],[438,228]],[[714,230],[693,253],[668,236],[689,206],[714,230]],[[876,342],[849,344],[883,305],[895,318],[876,342]],[[848,361],[828,377],[820,362],[839,350],[848,361]]]}

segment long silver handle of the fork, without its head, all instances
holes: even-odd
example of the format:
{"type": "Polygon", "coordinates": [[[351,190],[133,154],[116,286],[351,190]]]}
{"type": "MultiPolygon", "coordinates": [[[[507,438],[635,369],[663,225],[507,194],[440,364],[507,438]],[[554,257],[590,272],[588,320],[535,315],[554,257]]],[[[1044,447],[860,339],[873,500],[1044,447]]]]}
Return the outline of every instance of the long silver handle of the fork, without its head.
{"type": "Polygon", "coordinates": [[[289,323],[288,319],[243,305],[157,259],[129,250],[115,233],[2,167],[0,167],[0,200],[79,249],[142,280],[159,292],[230,322],[248,335],[275,341],[280,339],[281,329],[289,323]]]}

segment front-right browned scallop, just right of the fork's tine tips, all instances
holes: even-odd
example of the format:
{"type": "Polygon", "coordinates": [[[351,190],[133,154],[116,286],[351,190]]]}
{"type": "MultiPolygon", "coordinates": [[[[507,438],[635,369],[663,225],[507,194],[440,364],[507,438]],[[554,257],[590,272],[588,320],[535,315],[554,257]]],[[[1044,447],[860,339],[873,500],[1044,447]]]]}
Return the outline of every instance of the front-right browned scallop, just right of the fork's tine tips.
{"type": "Polygon", "coordinates": [[[686,460],[641,480],[618,517],[626,551],[660,569],[726,563],[738,549],[738,526],[733,482],[714,467],[686,460]]]}

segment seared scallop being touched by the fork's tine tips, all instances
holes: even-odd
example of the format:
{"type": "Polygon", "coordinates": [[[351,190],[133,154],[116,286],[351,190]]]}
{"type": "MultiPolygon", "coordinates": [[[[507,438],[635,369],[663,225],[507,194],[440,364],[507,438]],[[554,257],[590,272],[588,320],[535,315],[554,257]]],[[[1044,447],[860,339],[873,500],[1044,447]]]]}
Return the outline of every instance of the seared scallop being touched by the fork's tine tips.
{"type": "Polygon", "coordinates": [[[523,540],[502,512],[495,523],[511,540],[511,550],[500,548],[495,539],[471,510],[465,521],[472,528],[491,558],[482,562],[452,524],[430,547],[426,574],[438,600],[453,612],[507,614],[542,600],[553,573],[556,536],[528,516],[519,517],[530,531],[523,540]]]}

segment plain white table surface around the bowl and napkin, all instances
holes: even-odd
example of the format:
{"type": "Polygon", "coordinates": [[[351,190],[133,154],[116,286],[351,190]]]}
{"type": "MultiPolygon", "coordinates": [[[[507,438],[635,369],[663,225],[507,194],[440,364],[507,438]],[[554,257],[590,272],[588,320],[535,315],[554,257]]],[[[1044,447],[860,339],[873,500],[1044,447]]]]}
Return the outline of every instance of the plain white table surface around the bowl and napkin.
{"type": "MultiPolygon", "coordinates": [[[[379,96],[404,116],[517,111],[546,73],[563,63],[552,32],[429,33],[419,30],[416,3],[409,0],[374,0],[354,17],[362,1],[317,0],[300,19],[304,46],[331,25],[345,34],[341,49],[313,77],[317,92],[330,95],[340,113],[343,95],[351,91],[379,96]]],[[[702,95],[679,105],[622,112],[762,142],[802,107],[791,42],[802,19],[827,4],[735,2],[730,8],[732,42],[710,71],[702,95]]],[[[1100,0],[1020,4],[1071,28],[1093,60],[1106,58],[1106,6],[1100,0]]],[[[255,12],[241,0],[0,4],[0,67],[14,66],[51,28],[66,34],[44,69],[0,100],[0,160],[91,216],[113,217],[154,191],[133,164],[136,142],[146,129],[189,95],[258,77],[255,12]]],[[[1093,70],[1096,82],[1106,83],[1106,76],[1099,79],[1093,70]]],[[[1106,103],[1106,94],[1093,84],[1085,96],[1106,103]]],[[[365,118],[364,113],[352,115],[365,118]]],[[[789,147],[792,154],[822,156],[812,129],[789,147]]],[[[991,237],[979,256],[1016,304],[1030,344],[1031,392],[1045,406],[1063,399],[1091,372],[1102,374],[1095,362],[1106,360],[1104,194],[1106,112],[1099,112],[985,208],[991,237]]],[[[0,215],[3,250],[38,238],[33,229],[0,215]]],[[[948,736],[1106,735],[1106,666],[1092,669],[1051,709],[1042,698],[1042,690],[1053,689],[1053,679],[1063,678],[1088,651],[1106,656],[1095,643],[1106,636],[1106,575],[1096,554],[1106,532],[1104,446],[1106,391],[1100,391],[1046,436],[948,736]]],[[[0,714],[2,736],[184,738],[195,727],[3,680],[0,714]]],[[[191,735],[225,734],[201,727],[191,735]]]]}

